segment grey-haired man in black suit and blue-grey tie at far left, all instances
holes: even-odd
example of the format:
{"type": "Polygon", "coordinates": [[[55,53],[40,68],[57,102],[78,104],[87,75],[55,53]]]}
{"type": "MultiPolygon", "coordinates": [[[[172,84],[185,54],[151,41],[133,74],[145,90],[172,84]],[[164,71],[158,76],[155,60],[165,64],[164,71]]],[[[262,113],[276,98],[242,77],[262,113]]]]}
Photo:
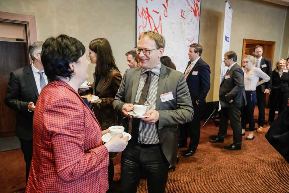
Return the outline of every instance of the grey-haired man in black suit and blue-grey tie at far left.
{"type": "Polygon", "coordinates": [[[16,136],[20,140],[21,150],[26,162],[26,183],[32,160],[33,140],[32,124],[37,98],[47,84],[47,76],[41,63],[40,53],[43,42],[34,42],[29,46],[33,63],[10,73],[5,104],[17,111],[16,136]]]}

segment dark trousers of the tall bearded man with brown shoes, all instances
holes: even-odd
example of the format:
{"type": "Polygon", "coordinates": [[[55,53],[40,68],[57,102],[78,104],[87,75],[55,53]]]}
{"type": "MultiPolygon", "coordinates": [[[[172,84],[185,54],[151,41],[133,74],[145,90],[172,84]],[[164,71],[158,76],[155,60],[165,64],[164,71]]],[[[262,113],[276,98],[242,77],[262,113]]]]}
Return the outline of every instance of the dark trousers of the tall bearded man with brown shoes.
{"type": "Polygon", "coordinates": [[[263,127],[265,122],[265,105],[266,105],[266,94],[262,92],[262,85],[257,86],[256,96],[257,96],[257,105],[259,110],[258,115],[258,125],[263,127]]]}

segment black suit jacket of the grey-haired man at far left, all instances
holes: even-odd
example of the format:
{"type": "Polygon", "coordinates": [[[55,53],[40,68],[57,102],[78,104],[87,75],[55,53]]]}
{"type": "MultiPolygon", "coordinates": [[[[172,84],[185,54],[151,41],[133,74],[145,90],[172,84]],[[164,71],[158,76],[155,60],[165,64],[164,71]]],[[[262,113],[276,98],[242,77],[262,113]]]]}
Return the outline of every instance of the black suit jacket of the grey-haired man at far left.
{"type": "Polygon", "coordinates": [[[36,105],[38,90],[31,65],[19,68],[10,73],[5,104],[17,111],[16,136],[20,139],[32,139],[32,124],[34,112],[28,111],[29,102],[36,105]]]}

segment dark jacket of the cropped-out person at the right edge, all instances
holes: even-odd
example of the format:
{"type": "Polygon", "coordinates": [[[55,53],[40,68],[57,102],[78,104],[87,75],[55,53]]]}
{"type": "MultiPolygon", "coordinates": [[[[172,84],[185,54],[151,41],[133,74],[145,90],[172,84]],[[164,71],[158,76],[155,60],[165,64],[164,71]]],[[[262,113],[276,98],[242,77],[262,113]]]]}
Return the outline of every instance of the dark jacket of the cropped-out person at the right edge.
{"type": "Polygon", "coordinates": [[[265,137],[289,163],[289,107],[272,123],[265,137]]]}

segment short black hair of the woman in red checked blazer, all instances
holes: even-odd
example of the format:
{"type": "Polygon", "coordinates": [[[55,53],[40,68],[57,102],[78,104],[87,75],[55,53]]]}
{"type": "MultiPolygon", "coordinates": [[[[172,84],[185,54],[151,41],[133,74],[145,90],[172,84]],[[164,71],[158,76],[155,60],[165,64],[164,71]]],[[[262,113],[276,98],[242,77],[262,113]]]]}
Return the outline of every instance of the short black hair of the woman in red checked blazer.
{"type": "Polygon", "coordinates": [[[73,71],[69,63],[77,62],[83,54],[85,47],[76,38],[65,34],[47,38],[41,52],[41,61],[47,78],[50,81],[58,80],[60,77],[70,80],[73,71]]]}

